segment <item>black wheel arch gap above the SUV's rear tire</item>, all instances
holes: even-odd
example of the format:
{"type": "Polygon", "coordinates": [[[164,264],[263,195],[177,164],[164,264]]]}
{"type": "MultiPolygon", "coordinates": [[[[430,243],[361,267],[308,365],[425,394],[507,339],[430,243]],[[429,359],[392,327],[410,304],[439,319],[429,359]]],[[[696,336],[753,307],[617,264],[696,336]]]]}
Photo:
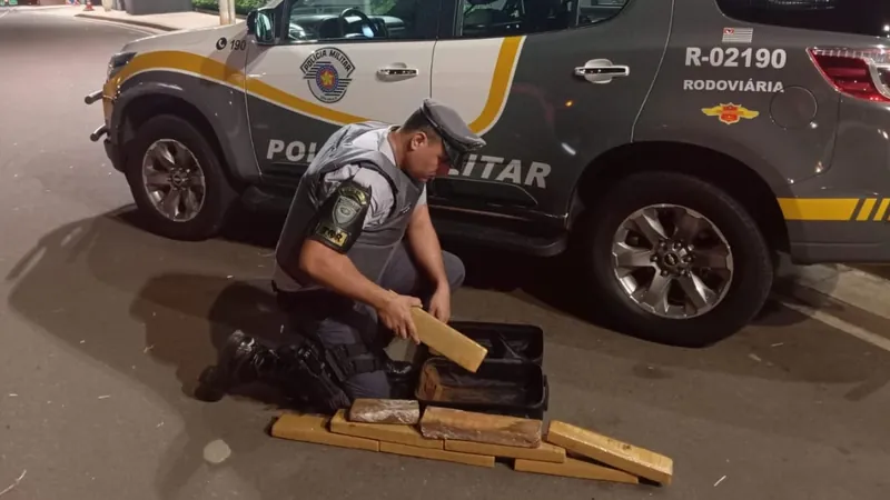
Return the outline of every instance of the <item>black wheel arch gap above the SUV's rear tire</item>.
{"type": "Polygon", "coordinates": [[[758,171],[714,149],[673,141],[627,143],[593,160],[582,172],[571,200],[570,231],[585,208],[595,204],[610,186],[643,171],[681,172],[718,186],[749,211],[773,250],[788,251],[788,227],[777,193],[758,171]],[[674,158],[682,162],[670,162],[674,158]]]}

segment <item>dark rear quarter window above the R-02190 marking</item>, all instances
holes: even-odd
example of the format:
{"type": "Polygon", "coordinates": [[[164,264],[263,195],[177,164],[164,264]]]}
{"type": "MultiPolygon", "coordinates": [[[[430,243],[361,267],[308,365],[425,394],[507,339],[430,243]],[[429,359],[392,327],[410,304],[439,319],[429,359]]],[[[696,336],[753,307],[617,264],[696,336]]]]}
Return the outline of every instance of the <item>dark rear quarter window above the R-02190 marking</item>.
{"type": "Polygon", "coordinates": [[[890,39],[890,0],[716,0],[740,21],[890,39]]]}

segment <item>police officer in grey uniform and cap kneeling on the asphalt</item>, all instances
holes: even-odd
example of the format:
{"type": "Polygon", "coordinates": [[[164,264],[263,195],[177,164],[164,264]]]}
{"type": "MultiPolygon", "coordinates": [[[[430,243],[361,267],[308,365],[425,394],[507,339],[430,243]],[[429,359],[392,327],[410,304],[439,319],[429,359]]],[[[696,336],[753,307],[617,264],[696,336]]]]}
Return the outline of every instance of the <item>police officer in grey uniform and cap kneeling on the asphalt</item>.
{"type": "Polygon", "coordinates": [[[236,332],[205,382],[224,391],[266,381],[325,412],[355,398],[407,397],[393,388],[414,367],[383,348],[393,333],[418,341],[412,307],[448,321],[464,280],[461,260],[439,247],[426,182],[484,144],[428,99],[400,127],[335,132],[303,176],[276,249],[273,286],[294,341],[270,348],[236,332]]]}

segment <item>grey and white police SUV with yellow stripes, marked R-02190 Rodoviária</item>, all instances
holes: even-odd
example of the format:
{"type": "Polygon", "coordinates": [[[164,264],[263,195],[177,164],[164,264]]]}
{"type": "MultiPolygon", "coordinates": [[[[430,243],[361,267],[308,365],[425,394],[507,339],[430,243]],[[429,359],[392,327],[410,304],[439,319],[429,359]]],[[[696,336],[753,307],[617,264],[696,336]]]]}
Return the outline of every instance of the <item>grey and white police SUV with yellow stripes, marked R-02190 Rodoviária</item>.
{"type": "Polygon", "coordinates": [[[487,141],[428,187],[441,233],[572,249],[591,308],[704,346],[777,252],[890,258],[888,37],[887,0],[271,0],[128,43],[87,102],[152,230],[202,239],[287,207],[340,126],[441,100],[487,141]]]}

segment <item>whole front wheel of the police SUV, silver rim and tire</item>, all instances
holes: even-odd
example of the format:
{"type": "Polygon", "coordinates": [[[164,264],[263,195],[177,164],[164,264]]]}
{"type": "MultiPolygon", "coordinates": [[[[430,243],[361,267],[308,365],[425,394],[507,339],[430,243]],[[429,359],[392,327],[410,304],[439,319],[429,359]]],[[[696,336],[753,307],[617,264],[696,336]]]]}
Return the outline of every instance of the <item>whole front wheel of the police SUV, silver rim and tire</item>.
{"type": "Polygon", "coordinates": [[[171,239],[216,236],[237,200],[208,140],[176,116],[158,116],[139,127],[126,172],[148,229],[171,239]]]}

